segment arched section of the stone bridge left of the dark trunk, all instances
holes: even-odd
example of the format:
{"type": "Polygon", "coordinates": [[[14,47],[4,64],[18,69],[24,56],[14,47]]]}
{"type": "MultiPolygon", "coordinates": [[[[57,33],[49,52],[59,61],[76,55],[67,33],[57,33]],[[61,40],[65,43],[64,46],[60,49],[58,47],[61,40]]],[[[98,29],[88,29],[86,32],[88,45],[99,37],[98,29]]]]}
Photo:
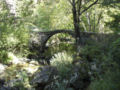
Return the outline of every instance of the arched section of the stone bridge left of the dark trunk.
{"type": "Polygon", "coordinates": [[[30,35],[30,49],[38,50],[39,52],[44,52],[46,48],[47,41],[55,34],[58,33],[67,33],[74,37],[74,31],[72,30],[54,30],[46,32],[31,32],[30,35]]]}

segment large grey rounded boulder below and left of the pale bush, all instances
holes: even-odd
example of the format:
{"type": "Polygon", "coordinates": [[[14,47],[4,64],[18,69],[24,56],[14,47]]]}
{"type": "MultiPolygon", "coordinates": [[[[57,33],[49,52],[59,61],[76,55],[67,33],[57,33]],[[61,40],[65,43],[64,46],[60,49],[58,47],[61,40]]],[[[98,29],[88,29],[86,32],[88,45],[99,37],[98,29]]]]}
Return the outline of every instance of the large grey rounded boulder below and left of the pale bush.
{"type": "Polygon", "coordinates": [[[54,77],[57,75],[57,73],[58,71],[56,67],[42,67],[34,74],[31,84],[37,89],[39,88],[39,90],[43,90],[47,84],[54,81],[54,77]]]}

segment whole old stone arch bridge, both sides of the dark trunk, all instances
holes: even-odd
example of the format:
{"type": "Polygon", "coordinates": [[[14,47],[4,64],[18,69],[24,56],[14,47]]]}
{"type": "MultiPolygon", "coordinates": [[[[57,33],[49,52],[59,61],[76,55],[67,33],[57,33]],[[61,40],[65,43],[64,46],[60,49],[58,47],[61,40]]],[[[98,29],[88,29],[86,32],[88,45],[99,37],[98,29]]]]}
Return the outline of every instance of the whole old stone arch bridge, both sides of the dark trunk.
{"type": "MultiPolygon", "coordinates": [[[[46,31],[46,32],[32,32],[30,38],[30,49],[38,50],[39,52],[44,52],[47,41],[55,34],[58,33],[67,33],[71,35],[73,38],[75,37],[75,33],[73,30],[54,30],[54,31],[46,31]]],[[[93,32],[80,32],[80,41],[81,45],[84,45],[88,40],[101,41],[104,40],[105,37],[108,37],[108,34],[102,33],[93,33],[93,32]]]]}

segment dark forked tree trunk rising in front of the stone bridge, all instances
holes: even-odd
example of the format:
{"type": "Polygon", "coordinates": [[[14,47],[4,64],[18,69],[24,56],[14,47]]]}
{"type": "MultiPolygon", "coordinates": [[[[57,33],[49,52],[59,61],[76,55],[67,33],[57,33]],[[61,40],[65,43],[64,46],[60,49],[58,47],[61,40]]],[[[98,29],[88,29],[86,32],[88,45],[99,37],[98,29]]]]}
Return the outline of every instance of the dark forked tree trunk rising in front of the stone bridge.
{"type": "MultiPolygon", "coordinates": [[[[83,41],[81,41],[81,35],[80,35],[80,16],[86,12],[88,9],[90,9],[93,5],[95,5],[99,0],[95,0],[92,4],[90,4],[88,7],[83,9],[81,11],[81,8],[83,0],[69,0],[69,2],[72,5],[72,14],[73,14],[73,22],[74,22],[74,30],[75,30],[75,36],[76,36],[76,47],[77,51],[80,50],[80,43],[83,44],[83,41]]],[[[88,1],[89,2],[89,1],[88,1]]],[[[84,4],[85,6],[85,4],[84,4]]]]}

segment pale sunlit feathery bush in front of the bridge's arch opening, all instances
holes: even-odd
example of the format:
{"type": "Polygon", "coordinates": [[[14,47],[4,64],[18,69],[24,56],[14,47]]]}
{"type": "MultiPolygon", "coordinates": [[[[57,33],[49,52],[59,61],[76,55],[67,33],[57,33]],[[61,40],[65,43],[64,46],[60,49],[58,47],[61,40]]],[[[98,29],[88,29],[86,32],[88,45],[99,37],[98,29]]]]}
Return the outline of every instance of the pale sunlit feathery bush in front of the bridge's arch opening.
{"type": "Polygon", "coordinates": [[[66,52],[55,54],[52,57],[50,64],[57,67],[61,77],[68,77],[72,69],[73,58],[66,52]]]}

